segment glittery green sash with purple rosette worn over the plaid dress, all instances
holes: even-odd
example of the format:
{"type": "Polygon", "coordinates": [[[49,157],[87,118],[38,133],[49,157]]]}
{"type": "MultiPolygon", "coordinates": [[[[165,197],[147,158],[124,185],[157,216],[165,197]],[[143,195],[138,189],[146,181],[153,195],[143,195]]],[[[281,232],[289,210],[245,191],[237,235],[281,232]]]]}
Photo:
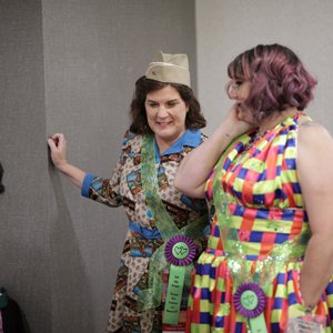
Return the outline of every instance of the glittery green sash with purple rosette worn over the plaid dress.
{"type": "MultiPolygon", "coordinates": [[[[231,144],[232,147],[232,144],[231,144]]],[[[281,244],[274,244],[272,250],[255,265],[246,259],[244,243],[239,239],[236,223],[230,212],[230,204],[234,199],[224,191],[222,178],[226,150],[215,167],[213,180],[213,199],[220,226],[226,264],[233,281],[233,302],[238,313],[246,319],[248,332],[266,333],[266,324],[263,315],[266,304],[266,292],[280,270],[289,262],[302,258],[310,239],[309,225],[302,233],[281,244]]]]}

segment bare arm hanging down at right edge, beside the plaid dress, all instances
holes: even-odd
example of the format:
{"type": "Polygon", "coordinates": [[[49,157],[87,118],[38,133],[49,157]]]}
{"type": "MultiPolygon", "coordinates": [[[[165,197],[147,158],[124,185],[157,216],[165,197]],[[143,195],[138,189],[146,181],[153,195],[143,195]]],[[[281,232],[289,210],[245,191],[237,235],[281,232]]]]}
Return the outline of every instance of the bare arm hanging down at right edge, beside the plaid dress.
{"type": "Polygon", "coordinates": [[[299,130],[297,175],[312,236],[301,270],[305,306],[314,306],[333,274],[333,139],[319,124],[299,130]]]}

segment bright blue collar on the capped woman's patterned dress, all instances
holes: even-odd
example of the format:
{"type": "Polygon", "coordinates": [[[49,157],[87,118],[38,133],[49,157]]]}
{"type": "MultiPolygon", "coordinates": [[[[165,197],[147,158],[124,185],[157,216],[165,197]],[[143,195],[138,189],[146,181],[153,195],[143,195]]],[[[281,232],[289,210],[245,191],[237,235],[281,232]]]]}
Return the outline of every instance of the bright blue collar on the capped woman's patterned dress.
{"type": "Polygon", "coordinates": [[[195,148],[201,143],[200,130],[186,130],[182,137],[180,137],[170,148],[168,148],[162,154],[158,143],[155,141],[155,160],[160,162],[160,157],[181,153],[184,150],[184,145],[195,148]]]}

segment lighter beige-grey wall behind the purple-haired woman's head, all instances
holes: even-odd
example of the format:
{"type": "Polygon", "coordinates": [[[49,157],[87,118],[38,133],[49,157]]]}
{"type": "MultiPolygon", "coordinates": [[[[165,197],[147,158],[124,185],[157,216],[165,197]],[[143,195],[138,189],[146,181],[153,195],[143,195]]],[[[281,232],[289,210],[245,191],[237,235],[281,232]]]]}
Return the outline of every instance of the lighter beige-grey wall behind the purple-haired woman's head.
{"type": "Polygon", "coordinates": [[[294,50],[317,80],[306,112],[333,133],[333,1],[195,0],[198,91],[210,134],[231,105],[226,65],[259,43],[294,50]]]}

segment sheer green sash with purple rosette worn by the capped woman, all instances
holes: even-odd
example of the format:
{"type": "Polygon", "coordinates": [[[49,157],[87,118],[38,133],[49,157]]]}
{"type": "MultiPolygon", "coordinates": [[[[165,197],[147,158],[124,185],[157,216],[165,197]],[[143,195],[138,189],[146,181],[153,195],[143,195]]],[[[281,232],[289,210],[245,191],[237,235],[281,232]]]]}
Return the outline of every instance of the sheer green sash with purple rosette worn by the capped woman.
{"type": "Polygon", "coordinates": [[[141,165],[147,205],[153,214],[164,243],[150,259],[148,289],[139,293],[138,305],[140,311],[144,311],[161,304],[163,287],[161,274],[170,270],[163,323],[176,324],[184,285],[190,286],[193,271],[195,245],[192,240],[203,235],[209,220],[206,215],[201,216],[181,230],[173,222],[160,198],[153,135],[143,137],[141,165]]]}

